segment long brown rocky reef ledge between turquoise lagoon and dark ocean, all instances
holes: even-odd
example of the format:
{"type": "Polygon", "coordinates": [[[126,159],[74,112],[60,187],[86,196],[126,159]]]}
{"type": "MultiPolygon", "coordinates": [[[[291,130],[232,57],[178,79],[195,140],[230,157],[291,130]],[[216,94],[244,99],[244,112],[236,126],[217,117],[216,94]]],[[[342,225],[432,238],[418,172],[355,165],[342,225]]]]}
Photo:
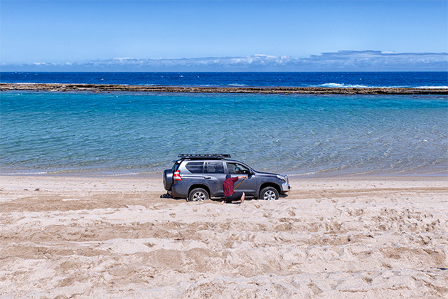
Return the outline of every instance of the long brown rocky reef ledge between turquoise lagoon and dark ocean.
{"type": "Polygon", "coordinates": [[[152,93],[283,93],[283,94],[341,94],[341,95],[448,95],[444,88],[304,88],[304,87],[197,87],[162,85],[108,85],[108,84],[39,84],[0,83],[0,91],[111,91],[152,93]]]}

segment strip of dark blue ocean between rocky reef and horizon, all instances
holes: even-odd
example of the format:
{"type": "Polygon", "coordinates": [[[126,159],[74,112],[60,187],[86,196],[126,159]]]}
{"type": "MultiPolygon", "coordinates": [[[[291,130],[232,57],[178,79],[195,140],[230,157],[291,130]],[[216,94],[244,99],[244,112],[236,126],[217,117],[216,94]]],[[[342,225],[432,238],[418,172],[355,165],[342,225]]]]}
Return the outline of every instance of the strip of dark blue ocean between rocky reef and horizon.
{"type": "Polygon", "coordinates": [[[0,83],[448,88],[448,72],[38,73],[2,72],[0,83]]]}

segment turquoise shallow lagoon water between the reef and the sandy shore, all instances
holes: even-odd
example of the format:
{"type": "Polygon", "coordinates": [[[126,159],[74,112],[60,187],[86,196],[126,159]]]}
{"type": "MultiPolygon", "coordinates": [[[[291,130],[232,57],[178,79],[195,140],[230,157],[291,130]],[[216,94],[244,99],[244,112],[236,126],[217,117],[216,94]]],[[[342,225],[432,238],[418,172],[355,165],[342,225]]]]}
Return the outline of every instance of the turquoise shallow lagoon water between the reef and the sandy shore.
{"type": "Polygon", "coordinates": [[[448,168],[448,98],[3,92],[0,173],[149,174],[178,153],[331,176],[448,168]]]}

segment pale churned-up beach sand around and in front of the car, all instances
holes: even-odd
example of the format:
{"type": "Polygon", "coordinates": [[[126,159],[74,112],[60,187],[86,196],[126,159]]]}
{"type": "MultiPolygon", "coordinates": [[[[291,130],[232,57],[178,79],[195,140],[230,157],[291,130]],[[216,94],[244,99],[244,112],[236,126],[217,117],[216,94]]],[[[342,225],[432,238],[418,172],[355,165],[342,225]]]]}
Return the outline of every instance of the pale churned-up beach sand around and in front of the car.
{"type": "Polygon", "coordinates": [[[221,205],[159,177],[0,177],[0,298],[448,298],[447,177],[290,183],[221,205]]]}

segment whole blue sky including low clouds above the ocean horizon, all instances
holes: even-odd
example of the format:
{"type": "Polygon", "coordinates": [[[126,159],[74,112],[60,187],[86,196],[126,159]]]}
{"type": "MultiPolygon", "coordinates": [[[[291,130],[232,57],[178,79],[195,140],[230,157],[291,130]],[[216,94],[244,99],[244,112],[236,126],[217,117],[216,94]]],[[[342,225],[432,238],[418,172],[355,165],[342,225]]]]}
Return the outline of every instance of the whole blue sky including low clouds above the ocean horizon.
{"type": "Polygon", "coordinates": [[[0,0],[0,70],[448,70],[448,1],[0,0]]]}

